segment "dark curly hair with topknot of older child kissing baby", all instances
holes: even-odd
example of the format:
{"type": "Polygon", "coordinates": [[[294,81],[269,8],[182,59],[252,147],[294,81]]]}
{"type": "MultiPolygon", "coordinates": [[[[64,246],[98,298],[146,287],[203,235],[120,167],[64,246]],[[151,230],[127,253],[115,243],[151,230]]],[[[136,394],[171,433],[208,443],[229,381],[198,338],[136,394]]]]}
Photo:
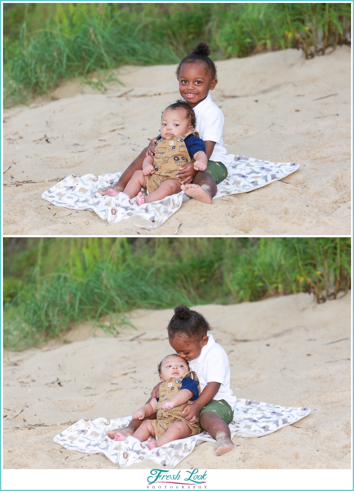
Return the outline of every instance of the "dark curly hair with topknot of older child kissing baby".
{"type": "Polygon", "coordinates": [[[171,339],[188,337],[193,341],[199,341],[211,330],[208,321],[187,305],[178,305],[174,309],[174,316],[167,326],[168,337],[171,339]]]}

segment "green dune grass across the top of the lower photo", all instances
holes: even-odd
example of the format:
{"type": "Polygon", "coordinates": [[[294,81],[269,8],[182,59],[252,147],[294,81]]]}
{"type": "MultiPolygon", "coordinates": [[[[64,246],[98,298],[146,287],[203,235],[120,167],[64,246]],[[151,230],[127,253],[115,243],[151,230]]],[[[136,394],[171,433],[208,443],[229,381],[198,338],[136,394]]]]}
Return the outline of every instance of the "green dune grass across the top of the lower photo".
{"type": "Polygon", "coordinates": [[[351,286],[349,238],[5,238],[4,346],[93,320],[117,332],[133,308],[238,303],[351,286]],[[110,325],[102,323],[109,314],[110,325]]]}

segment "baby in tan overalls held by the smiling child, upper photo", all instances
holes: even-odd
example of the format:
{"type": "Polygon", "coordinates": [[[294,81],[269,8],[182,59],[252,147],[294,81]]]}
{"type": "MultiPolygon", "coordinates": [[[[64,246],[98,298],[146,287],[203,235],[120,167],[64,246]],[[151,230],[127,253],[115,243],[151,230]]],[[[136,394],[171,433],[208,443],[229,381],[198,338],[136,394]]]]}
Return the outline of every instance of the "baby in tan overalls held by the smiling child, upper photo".
{"type": "MultiPolygon", "coordinates": [[[[195,170],[207,168],[205,143],[194,132],[195,124],[195,114],[188,102],[176,101],[163,111],[155,156],[145,157],[142,170],[136,170],[124,190],[130,198],[136,196],[138,205],[180,192],[183,179],[176,174],[182,165],[193,162],[195,170]],[[143,196],[141,188],[149,194],[143,196]]],[[[109,189],[108,194],[115,196],[118,191],[109,189]]]]}

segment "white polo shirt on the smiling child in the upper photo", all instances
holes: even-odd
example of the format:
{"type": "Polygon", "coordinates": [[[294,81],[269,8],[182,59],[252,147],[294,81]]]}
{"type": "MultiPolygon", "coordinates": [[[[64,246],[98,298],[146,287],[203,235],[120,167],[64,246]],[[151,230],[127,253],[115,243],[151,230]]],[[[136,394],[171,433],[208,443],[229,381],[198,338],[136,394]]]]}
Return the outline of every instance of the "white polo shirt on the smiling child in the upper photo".
{"type": "Polygon", "coordinates": [[[199,133],[202,140],[215,141],[213,153],[210,160],[230,164],[230,159],[226,157],[227,151],[223,147],[222,128],[224,126],[224,115],[220,108],[212,101],[210,94],[196,106],[194,106],[196,118],[195,130],[199,133]]]}

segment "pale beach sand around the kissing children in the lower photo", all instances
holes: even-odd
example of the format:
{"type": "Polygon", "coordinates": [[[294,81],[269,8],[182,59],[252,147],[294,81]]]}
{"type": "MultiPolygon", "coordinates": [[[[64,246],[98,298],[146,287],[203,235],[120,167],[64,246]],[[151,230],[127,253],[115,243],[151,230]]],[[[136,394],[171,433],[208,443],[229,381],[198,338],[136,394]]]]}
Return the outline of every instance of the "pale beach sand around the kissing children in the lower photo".
{"type": "MultiPolygon", "coordinates": [[[[234,438],[235,450],[221,457],[202,443],[177,468],[350,468],[350,293],[320,305],[302,293],[195,308],[228,353],[239,398],[312,412],[271,435],[234,438]]],[[[83,417],[127,416],[146,401],[157,363],[172,352],[165,330],[171,315],[136,310],[130,315],[136,330],[116,338],[102,331],[92,337],[86,323],[67,333],[66,344],[4,353],[3,467],[119,468],[103,455],[66,450],[53,437],[83,417]]],[[[128,470],[143,464],[149,465],[128,470]]]]}

